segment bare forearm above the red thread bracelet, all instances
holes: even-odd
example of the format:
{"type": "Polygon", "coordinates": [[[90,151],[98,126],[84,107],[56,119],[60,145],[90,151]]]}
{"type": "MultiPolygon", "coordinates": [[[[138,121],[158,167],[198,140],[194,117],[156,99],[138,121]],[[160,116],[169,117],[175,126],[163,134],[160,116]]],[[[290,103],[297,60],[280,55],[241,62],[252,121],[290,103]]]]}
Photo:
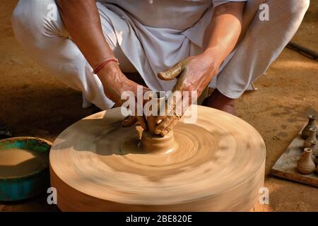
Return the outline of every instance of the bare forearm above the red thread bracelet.
{"type": "Polygon", "coordinates": [[[57,0],[57,5],[69,35],[90,66],[114,57],[102,33],[95,0],[57,0]]]}

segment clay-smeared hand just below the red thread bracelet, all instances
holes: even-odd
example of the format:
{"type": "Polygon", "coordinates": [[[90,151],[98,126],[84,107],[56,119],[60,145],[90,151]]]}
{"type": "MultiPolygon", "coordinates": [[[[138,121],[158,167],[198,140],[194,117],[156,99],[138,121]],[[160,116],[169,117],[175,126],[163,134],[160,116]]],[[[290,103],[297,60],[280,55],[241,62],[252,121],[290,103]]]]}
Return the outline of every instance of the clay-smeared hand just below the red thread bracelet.
{"type": "MultiPolygon", "coordinates": [[[[126,102],[126,100],[122,100],[121,98],[124,91],[131,91],[137,97],[137,86],[141,86],[124,76],[117,62],[106,64],[98,73],[98,77],[102,82],[105,95],[115,102],[115,106],[121,106],[126,102]]],[[[143,87],[143,93],[148,90],[148,88],[143,87]]],[[[136,100],[134,101],[137,108],[137,102],[136,100]]],[[[137,112],[136,109],[134,109],[134,112],[137,112]]],[[[126,117],[122,124],[124,126],[132,126],[136,121],[139,121],[143,129],[147,129],[146,118],[144,116],[131,115],[130,117],[126,117]]]]}

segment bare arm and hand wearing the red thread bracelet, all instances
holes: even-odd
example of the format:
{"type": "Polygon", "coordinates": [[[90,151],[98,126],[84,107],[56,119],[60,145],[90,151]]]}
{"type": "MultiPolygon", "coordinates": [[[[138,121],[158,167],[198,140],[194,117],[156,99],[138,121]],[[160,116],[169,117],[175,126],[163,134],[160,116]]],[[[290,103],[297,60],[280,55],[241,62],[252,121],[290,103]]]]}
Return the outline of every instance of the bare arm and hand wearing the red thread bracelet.
{"type": "MultiPolygon", "coordinates": [[[[61,18],[71,39],[86,57],[90,66],[95,67],[102,59],[114,57],[102,32],[100,15],[95,0],[57,0],[61,18]]],[[[119,69],[117,62],[109,62],[98,73],[105,95],[110,100],[121,105],[121,95],[124,91],[137,93],[137,83],[130,81],[119,69]]],[[[144,90],[147,90],[146,88],[144,90]]],[[[146,128],[143,117],[138,116],[141,126],[146,128]]],[[[135,119],[127,122],[129,126],[135,119]]]]}

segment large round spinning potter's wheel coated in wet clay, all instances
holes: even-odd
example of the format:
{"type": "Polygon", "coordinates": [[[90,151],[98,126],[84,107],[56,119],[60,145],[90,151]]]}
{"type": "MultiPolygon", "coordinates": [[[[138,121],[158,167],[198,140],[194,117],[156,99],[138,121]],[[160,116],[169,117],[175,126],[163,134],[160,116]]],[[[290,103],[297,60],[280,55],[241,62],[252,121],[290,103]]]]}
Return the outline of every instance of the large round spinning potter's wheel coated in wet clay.
{"type": "Polygon", "coordinates": [[[76,122],[54,141],[51,182],[61,210],[249,210],[264,183],[265,145],[245,121],[198,107],[175,126],[175,150],[138,148],[120,108],[76,122]]]}

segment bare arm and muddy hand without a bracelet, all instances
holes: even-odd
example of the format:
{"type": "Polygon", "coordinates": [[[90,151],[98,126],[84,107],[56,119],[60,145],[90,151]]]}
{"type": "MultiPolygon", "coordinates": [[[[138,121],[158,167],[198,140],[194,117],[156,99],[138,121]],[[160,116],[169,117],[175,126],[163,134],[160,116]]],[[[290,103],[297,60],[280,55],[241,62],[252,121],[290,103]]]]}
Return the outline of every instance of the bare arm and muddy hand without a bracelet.
{"type": "MultiPolygon", "coordinates": [[[[199,97],[237,44],[242,30],[244,8],[245,3],[243,2],[217,6],[204,34],[204,52],[180,61],[172,69],[158,73],[158,77],[163,80],[179,77],[173,91],[189,93],[195,91],[199,97]]],[[[189,104],[191,105],[192,102],[189,104]]],[[[175,106],[178,106],[177,103],[172,103],[172,107],[168,107],[168,109],[178,112],[175,106]]],[[[186,110],[187,108],[182,108],[182,114],[186,110]]],[[[155,127],[155,133],[165,136],[177,124],[179,117],[181,116],[176,113],[173,116],[157,117],[155,122],[158,126],[155,127]]]]}

